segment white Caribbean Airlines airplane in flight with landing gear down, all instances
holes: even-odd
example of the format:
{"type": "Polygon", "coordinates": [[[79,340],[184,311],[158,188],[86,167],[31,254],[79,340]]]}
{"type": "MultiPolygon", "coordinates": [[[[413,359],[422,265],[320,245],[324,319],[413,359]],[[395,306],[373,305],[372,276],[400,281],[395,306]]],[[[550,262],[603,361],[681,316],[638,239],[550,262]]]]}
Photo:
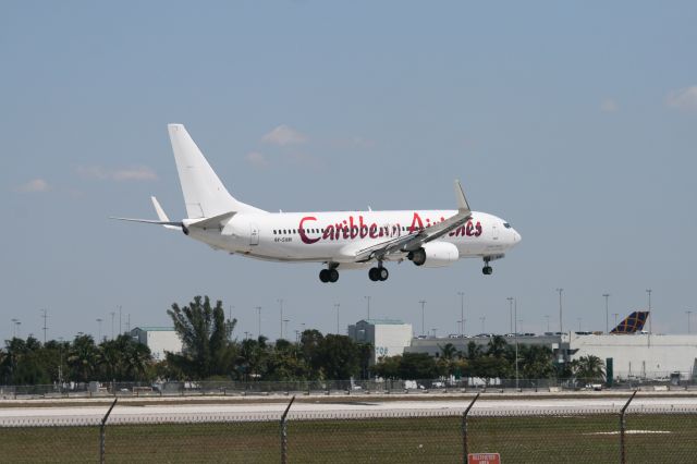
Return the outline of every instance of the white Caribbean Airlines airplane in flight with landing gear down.
{"type": "Polygon", "coordinates": [[[337,282],[339,270],[369,268],[371,281],[386,281],[386,262],[409,260],[443,267],[460,258],[490,261],[521,242],[501,218],[469,209],[455,181],[457,209],[402,211],[269,212],[234,198],[182,124],[168,131],[184,194],[187,218],[171,221],[156,197],[157,220],[111,218],[180,230],[215,249],[268,261],[320,262],[322,282],[337,282]]]}

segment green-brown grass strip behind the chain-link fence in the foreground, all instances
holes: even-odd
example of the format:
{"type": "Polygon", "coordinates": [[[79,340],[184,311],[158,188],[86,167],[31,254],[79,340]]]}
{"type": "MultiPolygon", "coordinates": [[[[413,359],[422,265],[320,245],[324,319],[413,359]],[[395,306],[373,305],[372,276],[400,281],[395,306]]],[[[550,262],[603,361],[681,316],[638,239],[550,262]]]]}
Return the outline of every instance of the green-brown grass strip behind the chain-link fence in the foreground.
{"type": "MultiPolygon", "coordinates": [[[[460,417],[289,423],[289,462],[462,462],[460,417]]],[[[470,417],[469,451],[504,463],[613,463],[616,415],[470,417]]],[[[697,462],[697,415],[628,415],[627,462],[697,462]]],[[[280,462],[278,423],[107,427],[108,462],[280,462]]],[[[98,427],[0,429],[0,462],[96,462],[98,427]]]]}

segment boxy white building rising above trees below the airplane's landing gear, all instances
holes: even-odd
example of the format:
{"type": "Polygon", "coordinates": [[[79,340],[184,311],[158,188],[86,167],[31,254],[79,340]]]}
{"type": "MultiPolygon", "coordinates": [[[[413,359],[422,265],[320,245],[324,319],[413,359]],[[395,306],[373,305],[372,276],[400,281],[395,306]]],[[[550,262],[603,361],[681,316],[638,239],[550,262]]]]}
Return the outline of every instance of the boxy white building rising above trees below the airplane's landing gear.
{"type": "Polygon", "coordinates": [[[348,326],[348,337],[358,343],[372,344],[370,364],[375,364],[381,356],[404,353],[412,342],[412,325],[393,319],[364,319],[348,326]]]}

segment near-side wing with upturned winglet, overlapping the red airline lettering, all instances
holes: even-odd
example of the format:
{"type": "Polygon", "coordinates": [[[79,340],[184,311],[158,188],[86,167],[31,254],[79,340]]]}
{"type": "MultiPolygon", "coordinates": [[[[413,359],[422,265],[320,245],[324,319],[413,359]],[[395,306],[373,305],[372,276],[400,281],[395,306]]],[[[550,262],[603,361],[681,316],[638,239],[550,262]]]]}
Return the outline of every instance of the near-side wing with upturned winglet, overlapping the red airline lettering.
{"type": "Polygon", "coordinates": [[[413,252],[421,247],[425,243],[439,239],[457,229],[472,218],[472,210],[469,209],[469,204],[467,203],[460,181],[455,181],[455,197],[457,198],[457,212],[455,215],[444,221],[421,229],[418,233],[391,239],[359,249],[355,254],[356,262],[366,262],[372,259],[381,260],[392,254],[413,252]]]}

